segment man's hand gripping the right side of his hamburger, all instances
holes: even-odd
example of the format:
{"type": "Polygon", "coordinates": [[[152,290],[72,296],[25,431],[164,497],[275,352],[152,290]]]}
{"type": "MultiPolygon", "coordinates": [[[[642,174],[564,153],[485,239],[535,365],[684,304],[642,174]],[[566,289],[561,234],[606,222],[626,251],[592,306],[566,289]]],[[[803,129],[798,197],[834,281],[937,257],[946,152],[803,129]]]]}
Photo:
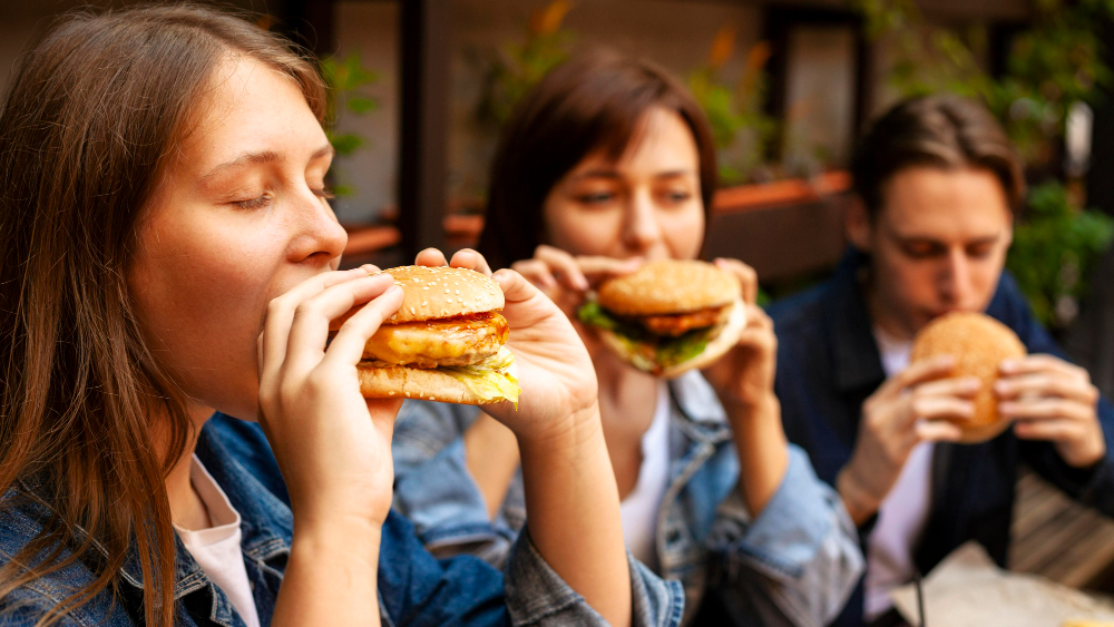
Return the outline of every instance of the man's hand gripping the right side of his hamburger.
{"type": "Polygon", "coordinates": [[[998,412],[1015,421],[1023,440],[1048,440],[1068,466],[1086,468],[1106,454],[1098,423],[1098,389],[1087,371],[1052,355],[1029,355],[1000,366],[994,391],[998,412]]]}

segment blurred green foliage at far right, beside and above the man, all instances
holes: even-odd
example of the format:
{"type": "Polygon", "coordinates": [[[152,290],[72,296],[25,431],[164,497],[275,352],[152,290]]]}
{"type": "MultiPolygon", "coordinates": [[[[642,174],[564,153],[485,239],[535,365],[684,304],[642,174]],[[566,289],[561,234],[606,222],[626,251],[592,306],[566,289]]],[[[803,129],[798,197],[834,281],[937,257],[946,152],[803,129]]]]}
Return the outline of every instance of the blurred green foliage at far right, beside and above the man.
{"type": "MultiPolygon", "coordinates": [[[[899,96],[952,92],[980,99],[1001,121],[1030,170],[1059,173],[1065,121],[1074,102],[1096,104],[1114,72],[1103,61],[1103,28],[1111,0],[1035,0],[1030,26],[1012,41],[1005,72],[993,77],[978,59],[983,28],[954,30],[925,23],[911,0],[853,0],[867,35],[888,42],[895,65],[887,77],[899,96]]],[[[1065,185],[1035,187],[1014,229],[1007,267],[1040,321],[1067,326],[1088,291],[1091,273],[1110,246],[1114,221],[1073,203],[1065,185]]]]}

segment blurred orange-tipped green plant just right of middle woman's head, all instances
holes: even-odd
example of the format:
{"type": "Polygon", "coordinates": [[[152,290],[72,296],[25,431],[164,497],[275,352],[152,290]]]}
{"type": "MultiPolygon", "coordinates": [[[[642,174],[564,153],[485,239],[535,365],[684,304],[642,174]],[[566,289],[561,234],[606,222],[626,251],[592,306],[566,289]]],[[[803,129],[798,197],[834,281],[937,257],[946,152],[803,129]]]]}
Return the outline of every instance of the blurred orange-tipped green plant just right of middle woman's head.
{"type": "Polygon", "coordinates": [[[764,68],[770,59],[770,43],[761,41],[750,49],[743,72],[734,85],[722,78],[723,66],[735,51],[736,31],[724,26],[712,40],[707,61],[688,75],[688,89],[707,116],[720,149],[720,182],[737,185],[751,178],[769,154],[778,134],[776,121],[765,115],[764,68]]]}

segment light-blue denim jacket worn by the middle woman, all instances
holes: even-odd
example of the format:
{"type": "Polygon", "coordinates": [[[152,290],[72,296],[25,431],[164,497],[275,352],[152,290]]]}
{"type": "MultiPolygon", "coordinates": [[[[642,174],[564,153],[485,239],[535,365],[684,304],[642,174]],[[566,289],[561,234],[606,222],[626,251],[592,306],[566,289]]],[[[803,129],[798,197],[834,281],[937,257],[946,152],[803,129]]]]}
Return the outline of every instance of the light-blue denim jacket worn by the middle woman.
{"type": "MultiPolygon", "coordinates": [[[[821,625],[862,569],[858,536],[838,497],[790,447],[785,478],[751,519],[723,408],[696,372],[670,384],[670,480],[657,519],[661,575],[684,585],[686,619],[715,586],[758,625],[821,625]]],[[[521,473],[492,521],[461,439],[473,408],[407,401],[394,432],[395,508],[436,555],[501,565],[526,520],[521,473]]]]}

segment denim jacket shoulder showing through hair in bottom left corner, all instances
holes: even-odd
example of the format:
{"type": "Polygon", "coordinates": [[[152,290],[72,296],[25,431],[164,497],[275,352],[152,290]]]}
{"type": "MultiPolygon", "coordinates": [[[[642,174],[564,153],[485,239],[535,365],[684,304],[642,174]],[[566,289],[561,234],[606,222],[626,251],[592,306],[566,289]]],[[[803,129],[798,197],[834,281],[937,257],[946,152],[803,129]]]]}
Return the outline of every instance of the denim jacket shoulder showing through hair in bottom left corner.
{"type": "MultiPolygon", "coordinates": [[[[0,568],[11,567],[11,560],[42,531],[49,515],[50,511],[43,503],[27,499],[14,490],[0,499],[0,568]]],[[[47,547],[39,555],[46,557],[52,548],[47,547]]],[[[63,548],[53,559],[65,561],[70,556],[63,548]]],[[[16,570],[16,574],[22,572],[22,569],[16,570]]],[[[0,625],[36,625],[47,611],[61,605],[75,590],[89,586],[95,579],[95,575],[84,562],[74,561],[45,577],[28,581],[0,598],[0,625]]],[[[120,610],[113,601],[111,592],[104,591],[71,611],[59,625],[128,624],[126,620],[121,621],[120,610]]]]}

